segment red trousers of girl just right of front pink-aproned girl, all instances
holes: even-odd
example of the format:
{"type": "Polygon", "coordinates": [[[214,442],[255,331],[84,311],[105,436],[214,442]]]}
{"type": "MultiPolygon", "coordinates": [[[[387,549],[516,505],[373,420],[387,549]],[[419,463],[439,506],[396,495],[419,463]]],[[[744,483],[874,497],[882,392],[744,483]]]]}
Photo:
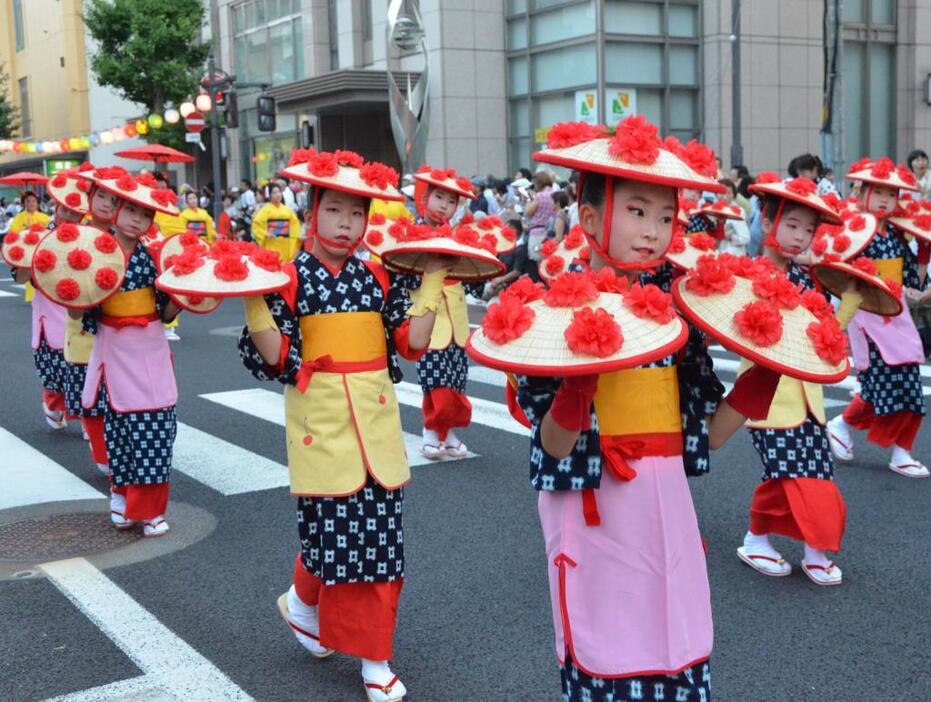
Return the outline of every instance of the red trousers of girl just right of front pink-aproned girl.
{"type": "Polygon", "coordinates": [[[780,534],[819,551],[840,551],[847,505],[833,480],[778,478],[753,493],[750,531],[780,534]]]}

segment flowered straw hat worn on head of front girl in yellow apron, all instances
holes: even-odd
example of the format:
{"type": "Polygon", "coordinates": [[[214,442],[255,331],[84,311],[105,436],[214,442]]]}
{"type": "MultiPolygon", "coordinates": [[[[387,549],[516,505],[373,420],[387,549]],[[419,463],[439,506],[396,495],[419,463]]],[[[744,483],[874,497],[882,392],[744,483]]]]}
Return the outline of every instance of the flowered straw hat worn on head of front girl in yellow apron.
{"type": "Polygon", "coordinates": [[[287,167],[278,171],[287,178],[333,190],[381,200],[403,200],[398,173],[377,161],[365,161],[354,151],[295,149],[287,167]]]}

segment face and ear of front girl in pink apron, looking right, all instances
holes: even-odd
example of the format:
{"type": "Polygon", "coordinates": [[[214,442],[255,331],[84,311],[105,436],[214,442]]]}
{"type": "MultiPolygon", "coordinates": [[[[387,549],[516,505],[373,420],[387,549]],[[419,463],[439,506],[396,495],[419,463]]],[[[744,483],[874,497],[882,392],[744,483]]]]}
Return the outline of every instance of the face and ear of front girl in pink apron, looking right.
{"type": "MultiPolygon", "coordinates": [[[[617,181],[608,256],[621,263],[647,263],[662,256],[672,240],[675,202],[674,188],[617,181]]],[[[583,205],[579,211],[582,226],[596,241],[603,241],[603,212],[603,205],[583,205]]]]}

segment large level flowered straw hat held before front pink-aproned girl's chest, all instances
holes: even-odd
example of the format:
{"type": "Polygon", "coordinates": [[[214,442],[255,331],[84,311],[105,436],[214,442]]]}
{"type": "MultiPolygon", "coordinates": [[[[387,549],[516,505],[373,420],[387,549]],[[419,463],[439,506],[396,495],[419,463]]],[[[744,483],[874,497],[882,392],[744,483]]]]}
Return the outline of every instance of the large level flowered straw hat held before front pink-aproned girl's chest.
{"type": "Polygon", "coordinates": [[[602,292],[590,273],[564,273],[549,290],[524,278],[489,306],[468,354],[523,375],[571,376],[632,368],[675,352],[688,327],[655,285],[602,292]]]}

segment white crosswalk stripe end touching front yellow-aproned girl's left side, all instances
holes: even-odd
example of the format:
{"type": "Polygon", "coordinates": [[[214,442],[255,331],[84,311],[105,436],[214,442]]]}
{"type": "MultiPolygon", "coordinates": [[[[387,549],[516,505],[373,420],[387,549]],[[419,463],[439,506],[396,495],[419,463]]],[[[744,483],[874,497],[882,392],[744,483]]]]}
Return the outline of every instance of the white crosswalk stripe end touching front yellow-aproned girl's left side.
{"type": "Polygon", "coordinates": [[[178,422],[172,466],[223,495],[288,484],[288,467],[178,422]]]}

